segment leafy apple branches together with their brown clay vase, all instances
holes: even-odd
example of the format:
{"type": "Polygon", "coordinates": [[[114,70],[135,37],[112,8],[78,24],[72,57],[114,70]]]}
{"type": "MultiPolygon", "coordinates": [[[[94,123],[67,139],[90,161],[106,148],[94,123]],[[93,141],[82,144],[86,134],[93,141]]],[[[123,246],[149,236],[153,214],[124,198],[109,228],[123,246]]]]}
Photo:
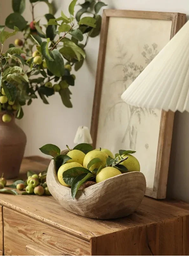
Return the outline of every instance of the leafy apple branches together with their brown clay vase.
{"type": "Polygon", "coordinates": [[[102,18],[98,13],[106,5],[85,0],[75,14],[77,0],[73,0],[69,17],[61,12],[55,18],[53,4],[41,1],[27,1],[33,20],[26,21],[22,16],[25,0],[12,0],[13,12],[5,20],[12,32],[0,26],[0,176],[4,173],[5,178],[18,175],[24,155],[26,135],[14,121],[23,117],[22,106],[38,97],[49,104],[47,98],[58,93],[64,106],[72,107],[70,88],[76,78],[72,69],[81,68],[88,39],[99,35],[102,18]],[[41,1],[49,6],[49,13],[44,15],[46,24],[34,15],[34,5],[41,1]],[[90,17],[85,16],[87,13],[90,17]],[[23,33],[23,39],[16,39],[4,51],[6,40],[18,31],[23,33]]]}

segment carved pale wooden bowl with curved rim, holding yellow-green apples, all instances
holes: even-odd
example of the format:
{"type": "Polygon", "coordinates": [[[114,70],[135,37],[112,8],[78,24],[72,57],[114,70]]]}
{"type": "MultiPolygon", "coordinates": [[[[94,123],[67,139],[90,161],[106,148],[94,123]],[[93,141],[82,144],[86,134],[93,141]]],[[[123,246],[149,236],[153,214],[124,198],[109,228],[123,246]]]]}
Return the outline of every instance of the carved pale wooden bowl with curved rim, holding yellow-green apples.
{"type": "Polygon", "coordinates": [[[130,172],[78,190],[73,199],[71,188],[58,181],[54,160],[49,164],[46,181],[51,195],[66,210],[94,219],[115,219],[133,213],[146,191],[144,175],[130,172]]]}

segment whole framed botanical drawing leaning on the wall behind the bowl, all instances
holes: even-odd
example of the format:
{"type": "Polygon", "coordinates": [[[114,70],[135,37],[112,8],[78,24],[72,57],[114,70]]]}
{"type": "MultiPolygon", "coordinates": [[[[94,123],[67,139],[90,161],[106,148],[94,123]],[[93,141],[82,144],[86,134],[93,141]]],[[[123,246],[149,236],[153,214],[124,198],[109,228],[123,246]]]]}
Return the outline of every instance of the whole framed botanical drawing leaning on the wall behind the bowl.
{"type": "Polygon", "coordinates": [[[133,107],[121,95],[184,25],[172,12],[104,10],[91,135],[94,147],[135,150],[146,195],[165,198],[174,113],[133,107]]]}

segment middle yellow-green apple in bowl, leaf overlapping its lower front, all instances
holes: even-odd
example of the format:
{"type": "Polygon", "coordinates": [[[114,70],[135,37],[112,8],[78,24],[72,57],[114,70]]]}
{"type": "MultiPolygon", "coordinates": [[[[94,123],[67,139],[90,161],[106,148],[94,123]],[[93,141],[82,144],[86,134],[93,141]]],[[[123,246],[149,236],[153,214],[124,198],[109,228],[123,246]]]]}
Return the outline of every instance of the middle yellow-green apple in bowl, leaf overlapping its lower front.
{"type": "Polygon", "coordinates": [[[89,171],[94,170],[95,168],[99,168],[101,165],[105,166],[106,165],[106,159],[108,158],[108,155],[105,152],[98,151],[98,150],[93,150],[90,151],[86,154],[84,160],[83,160],[83,167],[87,168],[88,163],[94,159],[94,158],[99,158],[101,162],[93,164],[90,168],[89,171]]]}

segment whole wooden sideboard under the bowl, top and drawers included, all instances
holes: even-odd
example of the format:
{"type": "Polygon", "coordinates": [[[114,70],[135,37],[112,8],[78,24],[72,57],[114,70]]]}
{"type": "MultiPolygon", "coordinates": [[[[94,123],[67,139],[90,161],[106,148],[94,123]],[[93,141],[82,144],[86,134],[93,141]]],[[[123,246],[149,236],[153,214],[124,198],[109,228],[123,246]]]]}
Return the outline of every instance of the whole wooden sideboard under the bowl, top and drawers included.
{"type": "MultiPolygon", "coordinates": [[[[48,163],[24,159],[19,178],[48,163]]],[[[107,221],[70,213],[52,196],[0,194],[0,255],[189,255],[189,205],[145,197],[132,215],[107,221]]]]}

